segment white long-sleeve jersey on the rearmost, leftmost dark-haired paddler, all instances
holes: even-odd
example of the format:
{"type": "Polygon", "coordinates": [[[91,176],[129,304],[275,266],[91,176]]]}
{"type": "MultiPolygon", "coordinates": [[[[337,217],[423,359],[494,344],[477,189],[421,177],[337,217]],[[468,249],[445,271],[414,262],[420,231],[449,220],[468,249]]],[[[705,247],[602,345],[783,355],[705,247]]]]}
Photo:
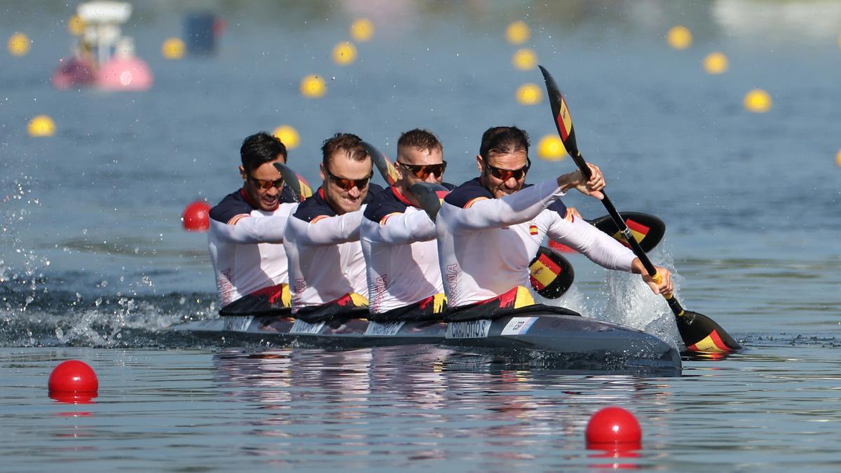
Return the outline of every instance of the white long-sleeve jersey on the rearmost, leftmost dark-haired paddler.
{"type": "Polygon", "coordinates": [[[210,209],[208,249],[223,307],[254,291],[288,284],[286,252],[280,243],[298,204],[286,194],[281,201],[276,210],[259,210],[240,189],[210,209]]]}

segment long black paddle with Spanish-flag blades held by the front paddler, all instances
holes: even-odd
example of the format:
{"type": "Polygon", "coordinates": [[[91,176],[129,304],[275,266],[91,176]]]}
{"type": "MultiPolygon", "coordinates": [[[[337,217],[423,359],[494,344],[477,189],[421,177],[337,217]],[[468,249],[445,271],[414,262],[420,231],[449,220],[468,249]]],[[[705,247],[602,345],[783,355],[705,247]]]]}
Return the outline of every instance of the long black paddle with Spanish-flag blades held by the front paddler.
{"type": "MultiPolygon", "coordinates": [[[[578,145],[575,142],[575,130],[573,129],[573,121],[569,115],[566,100],[564,100],[563,94],[560,89],[558,89],[558,84],[555,83],[552,74],[550,74],[543,66],[540,66],[540,70],[543,73],[543,79],[546,82],[549,104],[552,105],[552,118],[555,121],[555,126],[558,128],[558,135],[561,136],[561,141],[563,141],[563,146],[566,148],[569,156],[573,158],[573,161],[579,167],[581,173],[584,174],[584,177],[589,179],[590,167],[588,167],[587,163],[584,162],[584,157],[581,157],[578,145]]],[[[601,203],[605,205],[605,209],[607,210],[607,213],[611,215],[616,227],[619,229],[622,236],[625,237],[627,242],[631,243],[632,251],[643,263],[643,266],[645,267],[645,270],[648,271],[648,274],[655,281],[659,282],[659,274],[657,274],[657,270],[654,268],[651,261],[648,260],[648,256],[643,251],[643,248],[636,239],[632,238],[631,230],[628,229],[627,225],[625,225],[625,221],[622,219],[621,215],[619,215],[619,212],[616,211],[616,208],[611,203],[611,199],[607,198],[607,194],[604,190],[601,192],[604,194],[604,199],[601,200],[601,203]]],[[[664,294],[663,296],[669,302],[669,307],[672,312],[674,312],[675,322],[677,322],[680,337],[683,339],[687,350],[698,353],[723,353],[742,348],[741,345],[733,340],[733,337],[730,337],[730,335],[727,334],[727,332],[725,332],[724,329],[716,322],[713,322],[710,317],[699,314],[698,312],[685,311],[684,308],[680,306],[680,302],[678,302],[672,294],[664,294]]]]}

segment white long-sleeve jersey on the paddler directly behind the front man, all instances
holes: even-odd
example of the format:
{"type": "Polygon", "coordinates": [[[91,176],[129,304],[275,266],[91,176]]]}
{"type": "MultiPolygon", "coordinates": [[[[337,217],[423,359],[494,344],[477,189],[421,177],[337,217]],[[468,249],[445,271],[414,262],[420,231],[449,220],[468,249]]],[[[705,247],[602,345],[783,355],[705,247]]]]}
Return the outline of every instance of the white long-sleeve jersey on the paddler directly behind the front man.
{"type": "Polygon", "coordinates": [[[435,238],[435,222],[397,189],[374,196],[360,235],[372,313],[409,306],[444,291],[435,238]]]}

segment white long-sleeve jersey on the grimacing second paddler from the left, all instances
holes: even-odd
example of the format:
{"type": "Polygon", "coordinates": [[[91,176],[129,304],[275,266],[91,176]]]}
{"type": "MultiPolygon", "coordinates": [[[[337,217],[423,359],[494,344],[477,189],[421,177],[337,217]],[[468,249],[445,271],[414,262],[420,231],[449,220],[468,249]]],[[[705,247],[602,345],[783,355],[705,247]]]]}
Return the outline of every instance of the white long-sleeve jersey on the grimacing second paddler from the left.
{"type": "MultiPolygon", "coordinates": [[[[369,184],[368,197],[382,188],[369,184]]],[[[365,258],[359,244],[359,210],[336,215],[322,189],[304,200],[289,218],[283,247],[289,260],[292,311],[320,306],[342,295],[365,295],[365,258]]]]}

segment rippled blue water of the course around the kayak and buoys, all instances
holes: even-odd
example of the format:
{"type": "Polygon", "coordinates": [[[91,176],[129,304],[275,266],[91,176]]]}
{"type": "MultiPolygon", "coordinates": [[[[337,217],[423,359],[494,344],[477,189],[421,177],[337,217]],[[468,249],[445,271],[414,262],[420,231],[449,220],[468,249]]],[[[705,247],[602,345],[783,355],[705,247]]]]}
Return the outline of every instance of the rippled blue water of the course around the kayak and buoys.
{"type": "MultiPolygon", "coordinates": [[[[224,3],[217,56],[165,61],[160,45],[187,9],[135,4],[124,32],[156,84],[108,94],[50,87],[71,8],[0,5],[5,37],[34,41],[23,58],[3,52],[0,68],[3,470],[837,470],[841,50],[838,31],[812,21],[831,18],[833,2],[224,3]],[[377,33],[354,65],[336,66],[330,50],[357,16],[377,33]],[[611,199],[666,222],[652,257],[676,270],[684,306],[745,352],[652,378],[166,332],[219,309],[205,237],[179,219],[240,184],[243,137],[293,125],[290,164],[315,183],[320,141],[336,131],[393,155],[400,131],[428,127],[458,183],[473,177],[488,126],[520,125],[534,143],[553,133],[545,101],[514,99],[541,80],[510,66],[514,19],[532,26],[528,45],[566,93],[611,199]],[[679,23],[695,35],[689,50],[664,43],[679,23]],[[701,69],[714,50],[730,59],[721,76],[701,69]],[[309,73],[329,77],[325,98],[299,96],[309,73]],[[743,110],[751,88],[774,98],[769,113],[743,110]],[[56,120],[56,136],[26,136],[36,114],[56,120]],[[97,369],[95,403],[46,396],[62,359],[97,369]],[[610,404],[643,425],[637,456],[585,449],[588,417],[610,404]]],[[[536,160],[530,179],[573,168],[536,160]]],[[[677,339],[636,279],[570,260],[564,303],[677,339]]]]}

